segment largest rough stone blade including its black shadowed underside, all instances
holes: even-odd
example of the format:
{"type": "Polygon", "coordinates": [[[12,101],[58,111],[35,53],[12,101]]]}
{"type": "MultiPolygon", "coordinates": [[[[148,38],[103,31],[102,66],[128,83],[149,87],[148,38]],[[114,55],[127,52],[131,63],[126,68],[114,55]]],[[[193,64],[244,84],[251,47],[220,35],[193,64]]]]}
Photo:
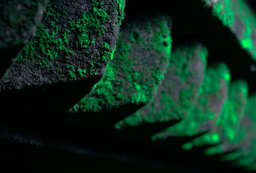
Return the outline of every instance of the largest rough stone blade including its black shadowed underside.
{"type": "Polygon", "coordinates": [[[51,1],[0,80],[1,110],[67,111],[89,93],[113,59],[124,7],[116,0],[51,1]]]}

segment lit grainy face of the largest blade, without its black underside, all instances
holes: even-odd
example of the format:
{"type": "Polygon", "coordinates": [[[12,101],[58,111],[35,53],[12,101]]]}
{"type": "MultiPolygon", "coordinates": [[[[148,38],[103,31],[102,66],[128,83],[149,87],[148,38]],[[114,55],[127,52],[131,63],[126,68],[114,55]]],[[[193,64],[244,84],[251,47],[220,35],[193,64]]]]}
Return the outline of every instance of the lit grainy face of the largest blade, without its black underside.
{"type": "Polygon", "coordinates": [[[51,1],[1,91],[101,77],[113,58],[123,10],[116,0],[51,1]]]}

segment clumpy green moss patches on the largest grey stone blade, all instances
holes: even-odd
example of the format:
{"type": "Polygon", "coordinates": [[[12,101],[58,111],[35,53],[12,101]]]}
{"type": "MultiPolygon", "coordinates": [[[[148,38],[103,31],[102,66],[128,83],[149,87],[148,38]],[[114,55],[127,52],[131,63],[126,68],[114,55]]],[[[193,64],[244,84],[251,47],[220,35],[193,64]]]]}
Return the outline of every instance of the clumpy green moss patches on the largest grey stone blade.
{"type": "MultiPolygon", "coordinates": [[[[50,67],[54,66],[56,60],[63,56],[67,59],[75,58],[74,51],[76,50],[83,52],[86,56],[91,55],[90,49],[95,44],[95,39],[107,32],[105,23],[110,17],[102,8],[104,6],[102,1],[91,1],[91,3],[90,11],[86,13],[79,11],[80,17],[77,20],[70,18],[68,24],[64,25],[65,27],[61,26],[61,28],[58,26],[58,22],[60,16],[65,15],[65,13],[57,12],[50,3],[44,13],[44,19],[47,20],[46,23],[49,22],[49,25],[38,24],[35,38],[17,57],[17,62],[50,67]],[[76,50],[73,50],[74,47],[76,50]]],[[[124,8],[124,2],[122,4],[122,8],[124,8]]],[[[111,49],[109,43],[105,42],[102,45],[102,50],[97,56],[102,57],[102,62],[108,63],[113,59],[115,49],[111,49]]],[[[93,72],[93,67],[102,62],[95,55],[91,58],[89,64],[86,65],[87,70],[74,67],[70,71],[67,68],[67,74],[73,79],[95,75],[96,72],[93,72]]],[[[69,65],[67,64],[67,66],[69,65]]]]}

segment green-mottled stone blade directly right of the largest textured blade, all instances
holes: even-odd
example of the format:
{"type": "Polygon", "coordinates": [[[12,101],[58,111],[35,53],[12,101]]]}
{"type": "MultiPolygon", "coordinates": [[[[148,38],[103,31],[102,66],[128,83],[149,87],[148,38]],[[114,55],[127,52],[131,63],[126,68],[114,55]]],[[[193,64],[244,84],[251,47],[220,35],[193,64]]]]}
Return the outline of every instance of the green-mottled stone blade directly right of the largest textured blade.
{"type": "Polygon", "coordinates": [[[169,22],[165,15],[127,19],[104,77],[70,111],[99,112],[150,102],[170,61],[169,22]]]}

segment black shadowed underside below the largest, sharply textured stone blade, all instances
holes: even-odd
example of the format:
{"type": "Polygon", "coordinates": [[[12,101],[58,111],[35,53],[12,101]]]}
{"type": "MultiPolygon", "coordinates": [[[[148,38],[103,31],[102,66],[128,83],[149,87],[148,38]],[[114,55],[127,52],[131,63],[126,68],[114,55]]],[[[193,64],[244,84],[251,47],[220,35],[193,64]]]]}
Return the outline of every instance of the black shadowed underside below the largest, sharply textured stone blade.
{"type": "Polygon", "coordinates": [[[66,112],[88,94],[99,80],[100,77],[95,77],[85,81],[3,91],[0,93],[0,112],[1,114],[66,112]]]}

